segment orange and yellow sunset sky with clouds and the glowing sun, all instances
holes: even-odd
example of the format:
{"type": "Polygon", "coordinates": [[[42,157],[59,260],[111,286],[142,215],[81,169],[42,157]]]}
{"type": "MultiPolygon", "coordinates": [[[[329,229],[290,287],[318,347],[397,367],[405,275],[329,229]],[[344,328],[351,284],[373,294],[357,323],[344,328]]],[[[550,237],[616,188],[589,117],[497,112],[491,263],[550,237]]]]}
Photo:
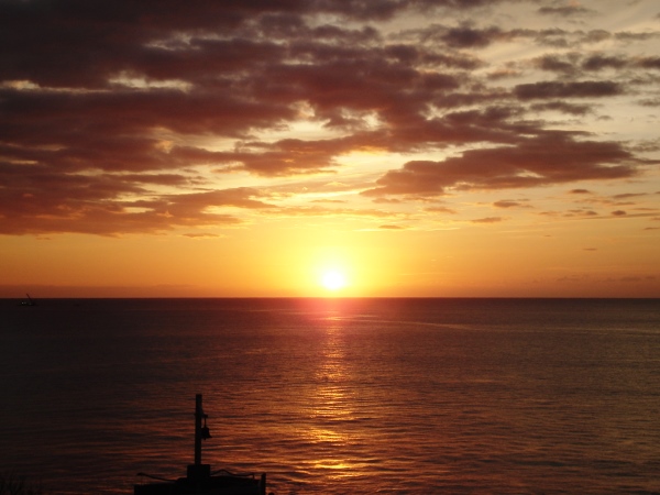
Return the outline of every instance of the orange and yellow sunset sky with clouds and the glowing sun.
{"type": "Polygon", "coordinates": [[[660,297],[657,0],[0,0],[0,297],[660,297]]]}

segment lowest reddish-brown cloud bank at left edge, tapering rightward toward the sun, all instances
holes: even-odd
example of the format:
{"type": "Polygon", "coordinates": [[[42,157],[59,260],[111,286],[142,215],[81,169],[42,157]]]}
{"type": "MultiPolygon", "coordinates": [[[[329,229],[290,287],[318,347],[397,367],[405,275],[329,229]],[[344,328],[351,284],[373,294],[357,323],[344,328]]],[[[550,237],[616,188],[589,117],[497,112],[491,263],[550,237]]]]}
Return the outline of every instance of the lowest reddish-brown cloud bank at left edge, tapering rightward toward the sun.
{"type": "Polygon", "coordinates": [[[0,190],[0,233],[157,233],[175,227],[241,223],[234,216],[208,212],[209,207],[271,208],[248,188],[132,201],[122,200],[127,193],[135,193],[134,186],[108,176],[51,175],[48,179],[42,175],[36,182],[25,177],[21,187],[0,190]]]}

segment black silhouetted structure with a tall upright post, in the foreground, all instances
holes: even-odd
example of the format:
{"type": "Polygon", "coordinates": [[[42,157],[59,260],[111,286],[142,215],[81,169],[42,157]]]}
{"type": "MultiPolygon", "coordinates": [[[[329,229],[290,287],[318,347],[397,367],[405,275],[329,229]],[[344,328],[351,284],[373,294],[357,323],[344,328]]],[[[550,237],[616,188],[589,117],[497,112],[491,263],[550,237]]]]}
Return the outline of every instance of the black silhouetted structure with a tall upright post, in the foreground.
{"type": "Polygon", "coordinates": [[[134,485],[134,495],[265,495],[266,474],[232,474],[220,470],[211,473],[210,464],[201,463],[201,441],[211,438],[206,426],[208,416],[201,408],[201,394],[195,397],[195,463],[188,465],[187,476],[177,480],[158,480],[158,483],[134,485]]]}

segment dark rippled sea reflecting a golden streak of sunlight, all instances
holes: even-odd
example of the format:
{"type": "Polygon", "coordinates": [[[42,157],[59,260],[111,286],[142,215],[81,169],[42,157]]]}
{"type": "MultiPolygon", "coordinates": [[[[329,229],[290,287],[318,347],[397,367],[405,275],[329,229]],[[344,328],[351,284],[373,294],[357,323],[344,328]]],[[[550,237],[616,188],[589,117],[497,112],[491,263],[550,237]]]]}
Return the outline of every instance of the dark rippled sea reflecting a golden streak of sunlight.
{"type": "Polygon", "coordinates": [[[132,494],[659,494],[659,299],[0,300],[0,472],[132,494]]]}

